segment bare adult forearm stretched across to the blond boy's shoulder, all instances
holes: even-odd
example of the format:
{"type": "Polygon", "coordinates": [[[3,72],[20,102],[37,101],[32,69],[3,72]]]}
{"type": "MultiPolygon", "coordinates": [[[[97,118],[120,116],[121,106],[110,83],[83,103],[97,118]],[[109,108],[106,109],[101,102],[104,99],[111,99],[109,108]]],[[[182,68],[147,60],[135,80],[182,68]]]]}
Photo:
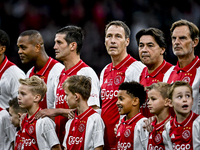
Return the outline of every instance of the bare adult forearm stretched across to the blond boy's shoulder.
{"type": "Polygon", "coordinates": [[[73,116],[75,109],[65,109],[65,108],[56,108],[56,109],[42,109],[37,112],[35,115],[36,119],[44,118],[44,117],[56,117],[56,116],[64,116],[68,117],[68,115],[73,116]]]}

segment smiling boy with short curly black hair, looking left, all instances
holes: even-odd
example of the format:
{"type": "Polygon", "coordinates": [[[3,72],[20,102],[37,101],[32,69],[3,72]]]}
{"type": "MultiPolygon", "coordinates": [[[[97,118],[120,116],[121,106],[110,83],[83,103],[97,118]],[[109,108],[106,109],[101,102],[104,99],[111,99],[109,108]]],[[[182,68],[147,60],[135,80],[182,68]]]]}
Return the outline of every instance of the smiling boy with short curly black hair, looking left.
{"type": "Polygon", "coordinates": [[[146,99],[144,87],[135,82],[123,82],[119,86],[117,106],[122,118],[117,129],[118,150],[146,150],[148,132],[143,130],[146,119],[140,112],[140,106],[146,99]]]}

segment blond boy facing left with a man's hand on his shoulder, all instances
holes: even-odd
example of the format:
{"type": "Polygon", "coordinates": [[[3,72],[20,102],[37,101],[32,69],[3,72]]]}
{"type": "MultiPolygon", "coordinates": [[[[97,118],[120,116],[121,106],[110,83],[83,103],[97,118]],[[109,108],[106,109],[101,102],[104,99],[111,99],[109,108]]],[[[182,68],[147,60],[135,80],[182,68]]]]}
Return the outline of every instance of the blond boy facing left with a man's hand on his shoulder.
{"type": "Polygon", "coordinates": [[[20,149],[61,149],[53,120],[48,117],[35,119],[35,114],[41,109],[39,102],[47,90],[45,82],[37,76],[20,79],[19,82],[18,104],[27,110],[27,115],[21,124],[23,143],[20,149]]]}

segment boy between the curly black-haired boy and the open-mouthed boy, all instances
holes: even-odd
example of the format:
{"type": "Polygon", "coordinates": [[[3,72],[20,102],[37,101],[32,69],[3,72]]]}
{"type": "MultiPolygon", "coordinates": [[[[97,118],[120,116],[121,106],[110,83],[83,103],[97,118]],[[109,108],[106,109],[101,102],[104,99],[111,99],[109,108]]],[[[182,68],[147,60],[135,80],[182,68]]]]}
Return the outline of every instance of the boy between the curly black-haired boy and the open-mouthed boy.
{"type": "Polygon", "coordinates": [[[146,87],[148,95],[148,108],[150,113],[155,115],[155,120],[151,123],[153,131],[149,133],[149,142],[147,150],[162,149],[165,150],[162,138],[165,122],[171,116],[169,115],[170,100],[168,98],[168,90],[170,84],[164,82],[154,83],[146,87]]]}

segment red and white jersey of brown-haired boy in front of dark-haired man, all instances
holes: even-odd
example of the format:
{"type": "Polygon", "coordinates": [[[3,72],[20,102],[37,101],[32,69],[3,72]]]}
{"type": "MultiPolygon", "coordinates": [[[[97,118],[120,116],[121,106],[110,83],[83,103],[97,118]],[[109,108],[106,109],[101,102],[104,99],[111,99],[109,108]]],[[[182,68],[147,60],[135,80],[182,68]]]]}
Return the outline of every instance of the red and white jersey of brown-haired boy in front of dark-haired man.
{"type": "Polygon", "coordinates": [[[63,146],[68,150],[94,150],[104,145],[104,123],[91,107],[66,123],[63,146]]]}

